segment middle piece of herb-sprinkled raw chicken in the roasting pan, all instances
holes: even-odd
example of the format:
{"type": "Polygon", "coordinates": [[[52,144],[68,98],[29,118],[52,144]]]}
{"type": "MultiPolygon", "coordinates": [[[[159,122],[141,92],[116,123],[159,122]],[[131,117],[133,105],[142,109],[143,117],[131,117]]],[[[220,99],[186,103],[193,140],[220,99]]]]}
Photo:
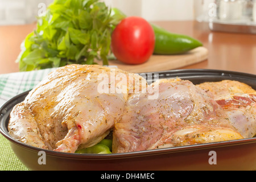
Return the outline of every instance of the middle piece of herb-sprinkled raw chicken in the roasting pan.
{"type": "Polygon", "coordinates": [[[221,107],[187,80],[160,80],[159,97],[133,94],[114,126],[113,152],[242,139],[221,107]]]}

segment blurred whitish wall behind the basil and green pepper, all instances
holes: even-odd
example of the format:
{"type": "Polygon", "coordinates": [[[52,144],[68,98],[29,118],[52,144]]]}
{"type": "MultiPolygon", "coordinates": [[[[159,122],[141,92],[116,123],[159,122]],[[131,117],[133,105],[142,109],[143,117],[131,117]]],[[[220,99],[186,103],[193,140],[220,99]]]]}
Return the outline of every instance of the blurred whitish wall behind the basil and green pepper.
{"type": "MultiPolygon", "coordinates": [[[[155,20],[193,20],[212,0],[104,0],[126,15],[155,20]],[[206,5],[206,6],[205,6],[206,5]]],[[[0,0],[0,25],[28,24],[53,0],[0,0]]]]}

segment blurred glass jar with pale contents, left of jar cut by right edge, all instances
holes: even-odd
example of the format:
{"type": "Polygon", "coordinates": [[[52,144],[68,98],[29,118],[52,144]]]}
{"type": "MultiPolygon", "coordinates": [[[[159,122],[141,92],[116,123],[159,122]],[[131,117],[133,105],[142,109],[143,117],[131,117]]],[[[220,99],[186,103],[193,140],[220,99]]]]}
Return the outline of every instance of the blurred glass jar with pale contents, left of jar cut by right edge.
{"type": "Polygon", "coordinates": [[[240,20],[243,15],[243,0],[220,0],[218,18],[221,20],[240,20]]]}

